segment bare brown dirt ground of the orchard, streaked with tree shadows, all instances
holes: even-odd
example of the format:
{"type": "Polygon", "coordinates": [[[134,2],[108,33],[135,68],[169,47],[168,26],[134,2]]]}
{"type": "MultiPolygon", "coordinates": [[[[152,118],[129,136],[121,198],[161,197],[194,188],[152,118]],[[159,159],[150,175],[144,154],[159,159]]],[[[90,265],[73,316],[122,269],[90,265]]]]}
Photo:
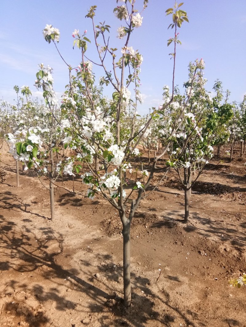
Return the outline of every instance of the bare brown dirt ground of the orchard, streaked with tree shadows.
{"type": "MultiPolygon", "coordinates": [[[[116,211],[56,188],[50,221],[49,191],[33,172],[15,187],[14,161],[6,146],[0,152],[0,327],[246,326],[246,288],[228,283],[246,272],[245,155],[211,161],[194,186],[188,224],[174,172],[142,202],[126,309],[116,211]]],[[[79,179],[75,189],[83,189],[79,179]]]]}

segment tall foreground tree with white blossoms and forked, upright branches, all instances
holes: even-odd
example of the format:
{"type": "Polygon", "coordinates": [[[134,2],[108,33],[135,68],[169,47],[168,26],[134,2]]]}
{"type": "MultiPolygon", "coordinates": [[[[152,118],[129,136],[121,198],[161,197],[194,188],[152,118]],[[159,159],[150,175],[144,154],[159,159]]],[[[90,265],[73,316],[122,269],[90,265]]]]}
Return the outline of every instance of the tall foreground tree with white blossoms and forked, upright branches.
{"type": "MultiPolygon", "coordinates": [[[[117,1],[118,2],[118,1],[117,1]]],[[[165,109],[174,99],[174,86],[170,101],[154,110],[149,119],[140,128],[137,126],[137,105],[141,102],[139,91],[139,74],[142,63],[142,55],[129,46],[130,36],[136,28],[142,24],[141,14],[146,9],[148,1],[144,0],[142,10],[135,9],[135,0],[125,0],[123,5],[114,8],[115,16],[122,22],[118,28],[118,38],[124,40],[121,52],[110,47],[107,33],[110,26],[105,23],[95,25],[94,16],[96,6],[88,10],[86,17],[92,20],[94,43],[98,53],[99,63],[92,62],[86,57],[86,50],[90,40],[86,37],[86,31],[79,34],[74,30],[72,37],[75,39],[73,46],[81,51],[82,61],[76,69],[73,69],[64,58],[69,69],[69,85],[63,95],[62,111],[70,123],[67,137],[69,146],[74,148],[79,157],[87,166],[87,172],[82,173],[81,179],[88,186],[88,197],[95,195],[107,199],[118,210],[123,225],[123,279],[124,279],[124,303],[131,304],[131,281],[130,281],[130,226],[135,211],[142,198],[147,196],[152,181],[156,163],[167,151],[171,144],[171,138],[178,129],[180,122],[174,122],[170,131],[170,140],[162,153],[154,158],[150,173],[142,171],[141,178],[133,181],[131,188],[127,188],[125,176],[131,175],[131,160],[138,157],[138,146],[144,139],[154,119],[160,119],[165,115],[165,109]],[[102,45],[99,44],[99,39],[102,45]],[[112,71],[105,66],[105,58],[112,61],[112,71]],[[117,58],[118,57],[118,58],[117,58]],[[116,59],[117,58],[117,59],[116,59]],[[113,87],[112,99],[102,96],[103,89],[95,86],[95,77],[92,72],[92,63],[98,64],[104,72],[100,78],[100,85],[113,87]],[[127,77],[125,71],[129,72],[127,77]],[[75,74],[72,75],[72,72],[75,74]],[[133,88],[133,93],[131,89],[133,88]],[[126,128],[124,117],[131,120],[130,129],[126,128]],[[143,194],[145,193],[145,195],[143,194]],[[128,211],[129,207],[129,211],[128,211]]],[[[184,20],[188,21],[186,12],[179,9],[182,4],[175,2],[174,8],[166,11],[173,14],[174,38],[168,40],[168,45],[174,43],[174,59],[176,58],[176,44],[180,43],[177,28],[184,20]]],[[[49,43],[59,41],[59,30],[47,25],[44,29],[45,40],[49,43]]],[[[57,46],[56,46],[57,47],[57,46]]],[[[173,80],[174,85],[174,80],[173,80]]],[[[171,126],[171,125],[170,125],[171,126]]],[[[80,167],[74,165],[76,172],[80,167]]],[[[166,173],[163,175],[162,179],[166,173]]]]}

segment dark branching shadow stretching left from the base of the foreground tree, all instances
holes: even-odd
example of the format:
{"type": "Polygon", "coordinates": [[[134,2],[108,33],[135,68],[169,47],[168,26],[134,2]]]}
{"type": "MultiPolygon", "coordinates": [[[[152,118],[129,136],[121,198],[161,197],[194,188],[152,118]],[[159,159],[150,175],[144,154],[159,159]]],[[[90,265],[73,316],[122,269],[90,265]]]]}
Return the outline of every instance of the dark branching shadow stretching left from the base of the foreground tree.
{"type": "MultiPolygon", "coordinates": [[[[88,305],[86,306],[86,304],[89,303],[90,312],[98,313],[98,322],[101,326],[105,326],[105,323],[109,320],[113,321],[112,326],[144,327],[148,322],[170,326],[171,321],[176,316],[184,319],[190,326],[195,326],[182,310],[171,305],[168,293],[165,293],[165,296],[154,293],[150,287],[150,280],[135,273],[132,273],[133,304],[130,308],[125,308],[122,293],[117,295],[113,287],[114,282],[123,284],[122,266],[114,265],[111,255],[98,253],[98,260],[105,263],[105,265],[97,267],[101,276],[104,277],[102,279],[96,278],[90,273],[95,269],[94,266],[92,266],[92,269],[88,269],[92,265],[91,261],[84,260],[76,268],[65,269],[58,263],[63,263],[64,258],[69,257],[64,252],[63,243],[63,235],[54,232],[51,227],[36,228],[26,225],[25,231],[23,229],[17,230],[17,226],[13,221],[1,217],[0,254],[4,258],[4,265],[0,265],[0,270],[5,272],[15,271],[20,275],[24,274],[24,277],[20,276],[20,279],[10,279],[1,285],[3,287],[2,293],[9,296],[9,294],[13,294],[11,290],[15,290],[14,294],[18,290],[22,290],[28,294],[30,293],[41,304],[52,301],[57,310],[66,311],[71,309],[76,312],[76,315],[86,315],[88,313],[88,310],[86,310],[88,305]],[[36,236],[37,232],[39,237],[36,236]],[[39,274],[42,275],[43,279],[49,281],[50,287],[45,289],[42,284],[28,282],[28,278],[37,278],[39,274]],[[78,276],[83,276],[83,279],[78,276]],[[67,300],[66,295],[61,293],[58,287],[64,286],[64,284],[65,287],[67,286],[72,291],[76,288],[76,291],[81,292],[82,297],[85,294],[92,302],[84,304],[83,302],[76,303],[67,300]],[[164,314],[163,309],[160,310],[159,305],[156,306],[156,300],[158,300],[162,308],[166,306],[171,308],[174,315],[164,314]],[[139,315],[139,312],[141,312],[141,315],[139,315]]],[[[35,279],[33,280],[35,281],[35,279]]],[[[15,305],[11,303],[10,301],[7,302],[4,312],[8,309],[11,312],[18,309],[19,303],[16,302],[15,305]]],[[[41,326],[41,322],[37,322],[33,318],[31,311],[27,312],[25,319],[30,327],[41,326]]],[[[49,321],[49,318],[47,319],[49,321]]]]}

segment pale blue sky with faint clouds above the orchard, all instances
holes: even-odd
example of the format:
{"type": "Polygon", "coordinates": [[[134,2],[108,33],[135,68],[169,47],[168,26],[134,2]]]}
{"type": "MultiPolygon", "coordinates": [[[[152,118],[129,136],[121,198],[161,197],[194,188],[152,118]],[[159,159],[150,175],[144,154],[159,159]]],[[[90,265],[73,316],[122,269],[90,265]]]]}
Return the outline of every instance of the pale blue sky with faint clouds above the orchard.
{"type": "MultiPolygon", "coordinates": [[[[136,0],[142,6],[142,0],[136,0]]],[[[43,62],[54,69],[54,89],[58,96],[68,84],[68,72],[53,44],[45,42],[42,30],[46,24],[60,29],[59,50],[74,67],[80,63],[80,52],[72,49],[72,31],[87,29],[92,39],[91,20],[85,18],[87,9],[97,5],[96,22],[106,20],[111,28],[111,46],[121,48],[123,40],[116,38],[120,21],[114,17],[114,0],[8,0],[1,1],[0,12],[0,98],[10,102],[16,97],[14,85],[29,85],[34,95],[40,97],[33,86],[37,65],[43,62]]],[[[141,66],[141,92],[144,104],[140,113],[161,104],[162,87],[172,82],[172,60],[167,40],[172,30],[167,30],[171,16],[165,10],[173,7],[172,0],[149,0],[148,8],[142,14],[143,24],[135,29],[129,43],[143,55],[141,66]]],[[[141,8],[137,6],[137,8],[141,8]]],[[[184,23],[179,30],[181,46],[177,48],[175,84],[182,90],[187,80],[189,61],[203,58],[206,64],[207,89],[212,91],[214,81],[223,82],[224,91],[231,91],[230,101],[242,101],[246,94],[246,1],[245,0],[187,0],[183,9],[187,11],[190,23],[184,23]]],[[[96,60],[92,43],[87,51],[89,58],[96,60]]],[[[97,60],[98,61],[98,60],[97,60]]],[[[96,77],[103,72],[95,70],[96,77]]],[[[107,95],[112,90],[105,90],[107,95]]]]}

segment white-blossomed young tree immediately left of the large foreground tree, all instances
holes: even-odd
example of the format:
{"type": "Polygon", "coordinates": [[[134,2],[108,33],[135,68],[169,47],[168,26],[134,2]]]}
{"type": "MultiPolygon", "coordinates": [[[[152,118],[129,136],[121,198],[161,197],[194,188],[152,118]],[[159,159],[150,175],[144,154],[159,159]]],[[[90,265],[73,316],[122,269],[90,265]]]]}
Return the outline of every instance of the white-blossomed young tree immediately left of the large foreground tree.
{"type": "MultiPolygon", "coordinates": [[[[73,168],[71,158],[65,158],[66,153],[63,151],[66,142],[70,141],[70,138],[66,137],[69,121],[62,119],[62,112],[52,86],[52,69],[49,66],[44,67],[43,64],[39,67],[35,85],[43,89],[46,106],[32,101],[23,104],[18,112],[18,130],[14,134],[9,133],[8,139],[11,145],[10,153],[17,163],[21,161],[24,170],[33,168],[38,177],[43,176],[49,181],[53,219],[54,184],[61,173],[75,175],[71,169],[73,168]]],[[[26,92],[28,89],[25,87],[26,92]]]]}

